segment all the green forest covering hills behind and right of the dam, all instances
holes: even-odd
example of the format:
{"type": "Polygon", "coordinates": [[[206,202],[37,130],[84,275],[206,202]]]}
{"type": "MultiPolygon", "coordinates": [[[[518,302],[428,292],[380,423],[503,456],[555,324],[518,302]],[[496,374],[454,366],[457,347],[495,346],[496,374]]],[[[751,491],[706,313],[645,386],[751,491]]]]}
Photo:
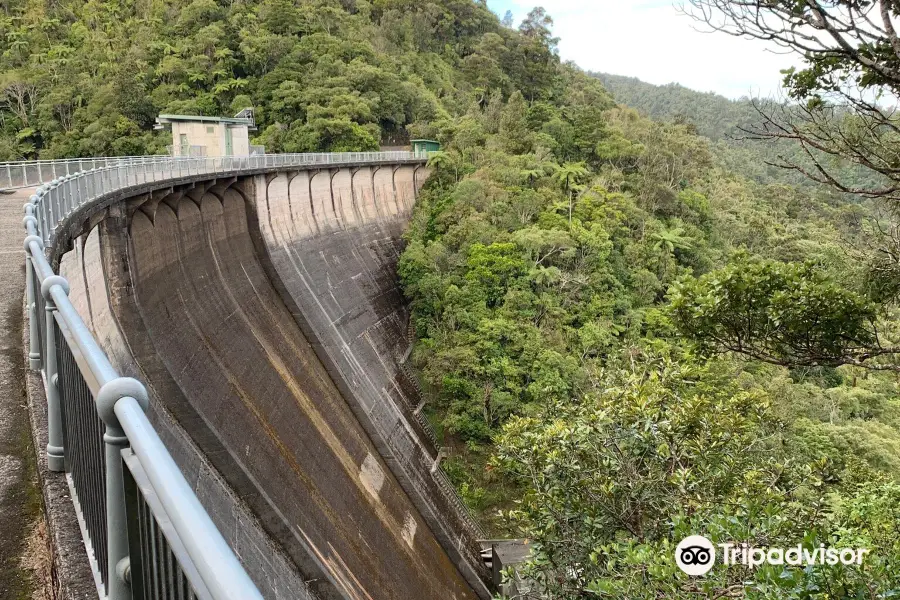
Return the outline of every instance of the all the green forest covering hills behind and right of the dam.
{"type": "Polygon", "coordinates": [[[163,153],[157,114],[247,106],[269,152],[442,143],[399,264],[413,362],[541,597],[900,595],[890,204],[767,166],[798,150],[729,137],[747,103],[598,78],[548,11],[475,0],[11,0],[0,30],[0,159],[163,153]],[[870,554],[695,579],[692,533],[870,554]]]}

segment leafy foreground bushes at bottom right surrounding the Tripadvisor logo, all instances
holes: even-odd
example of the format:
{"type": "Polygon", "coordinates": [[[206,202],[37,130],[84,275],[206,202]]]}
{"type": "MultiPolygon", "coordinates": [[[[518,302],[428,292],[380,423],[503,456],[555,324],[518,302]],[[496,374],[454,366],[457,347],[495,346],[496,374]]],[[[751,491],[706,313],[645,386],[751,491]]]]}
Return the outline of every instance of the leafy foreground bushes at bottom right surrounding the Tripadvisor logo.
{"type": "MultiPolygon", "coordinates": [[[[783,443],[765,392],[719,363],[649,357],[577,403],[511,420],[497,463],[529,492],[510,512],[537,541],[542,598],[869,598],[900,593],[900,486],[854,465],[838,480],[783,443]],[[676,566],[678,542],[871,551],[862,567],[676,566]]],[[[721,556],[721,554],[720,554],[721,556]]],[[[533,588],[534,589],[534,588],[533,588]]]]}

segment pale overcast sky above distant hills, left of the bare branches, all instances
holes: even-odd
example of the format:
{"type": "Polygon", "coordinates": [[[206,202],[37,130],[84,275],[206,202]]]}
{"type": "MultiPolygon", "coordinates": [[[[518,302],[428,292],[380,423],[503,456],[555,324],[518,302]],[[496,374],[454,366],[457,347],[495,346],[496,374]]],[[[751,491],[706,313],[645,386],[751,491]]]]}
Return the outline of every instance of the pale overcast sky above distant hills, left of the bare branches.
{"type": "Polygon", "coordinates": [[[564,60],[590,71],[676,82],[729,98],[774,95],[792,55],[766,51],[756,40],[702,33],[675,8],[678,0],[488,0],[518,26],[534,6],[553,17],[564,60]]]}

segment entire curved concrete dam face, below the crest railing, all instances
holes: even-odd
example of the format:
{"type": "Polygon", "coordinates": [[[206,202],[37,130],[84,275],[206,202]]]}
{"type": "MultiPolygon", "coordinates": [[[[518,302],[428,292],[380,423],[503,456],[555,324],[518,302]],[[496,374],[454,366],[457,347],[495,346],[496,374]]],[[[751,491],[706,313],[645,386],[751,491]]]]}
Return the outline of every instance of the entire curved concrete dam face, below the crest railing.
{"type": "Polygon", "coordinates": [[[147,185],[57,244],[84,322],[266,598],[489,598],[404,375],[419,162],[147,185]]]}

